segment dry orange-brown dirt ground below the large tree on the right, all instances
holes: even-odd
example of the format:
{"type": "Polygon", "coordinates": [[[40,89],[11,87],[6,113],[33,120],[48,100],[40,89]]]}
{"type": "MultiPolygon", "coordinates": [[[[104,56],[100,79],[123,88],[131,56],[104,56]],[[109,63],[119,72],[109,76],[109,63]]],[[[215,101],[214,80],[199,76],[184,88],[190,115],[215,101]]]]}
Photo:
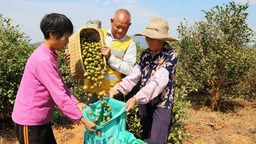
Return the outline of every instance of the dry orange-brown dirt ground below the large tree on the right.
{"type": "Polygon", "coordinates": [[[190,109],[184,121],[190,137],[187,144],[256,144],[256,102],[234,101],[224,106],[228,112],[212,112],[208,107],[190,109]]]}

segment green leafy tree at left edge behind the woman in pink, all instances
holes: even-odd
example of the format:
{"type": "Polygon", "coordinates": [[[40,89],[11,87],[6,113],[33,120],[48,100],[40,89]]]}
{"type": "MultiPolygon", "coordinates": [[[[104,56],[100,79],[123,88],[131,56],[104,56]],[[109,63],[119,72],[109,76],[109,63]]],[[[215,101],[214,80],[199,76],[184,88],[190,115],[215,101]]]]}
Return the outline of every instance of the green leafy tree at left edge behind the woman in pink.
{"type": "Polygon", "coordinates": [[[19,26],[12,26],[11,19],[0,14],[0,112],[12,111],[17,89],[27,58],[33,51],[29,37],[21,33],[19,26]]]}

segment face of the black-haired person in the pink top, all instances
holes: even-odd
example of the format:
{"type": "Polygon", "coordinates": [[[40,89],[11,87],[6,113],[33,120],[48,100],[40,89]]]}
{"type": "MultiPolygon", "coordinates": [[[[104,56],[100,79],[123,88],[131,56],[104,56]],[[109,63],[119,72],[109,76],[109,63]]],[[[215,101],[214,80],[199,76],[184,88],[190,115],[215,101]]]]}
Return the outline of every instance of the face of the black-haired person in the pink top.
{"type": "Polygon", "coordinates": [[[65,46],[67,46],[69,42],[69,37],[71,34],[65,33],[60,39],[57,39],[55,35],[52,36],[52,50],[58,50],[61,51],[64,49],[65,46]]]}

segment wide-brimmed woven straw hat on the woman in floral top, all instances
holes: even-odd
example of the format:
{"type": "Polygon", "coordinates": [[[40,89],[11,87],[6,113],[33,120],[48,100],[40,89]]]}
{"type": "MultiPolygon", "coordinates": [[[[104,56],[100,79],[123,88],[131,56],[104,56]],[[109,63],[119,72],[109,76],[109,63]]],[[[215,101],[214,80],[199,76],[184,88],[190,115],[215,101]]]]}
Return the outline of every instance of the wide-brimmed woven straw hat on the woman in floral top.
{"type": "Polygon", "coordinates": [[[135,34],[135,36],[146,36],[152,39],[161,39],[164,41],[177,41],[177,38],[168,34],[169,26],[168,22],[162,18],[153,18],[149,22],[146,29],[141,32],[135,34]]]}

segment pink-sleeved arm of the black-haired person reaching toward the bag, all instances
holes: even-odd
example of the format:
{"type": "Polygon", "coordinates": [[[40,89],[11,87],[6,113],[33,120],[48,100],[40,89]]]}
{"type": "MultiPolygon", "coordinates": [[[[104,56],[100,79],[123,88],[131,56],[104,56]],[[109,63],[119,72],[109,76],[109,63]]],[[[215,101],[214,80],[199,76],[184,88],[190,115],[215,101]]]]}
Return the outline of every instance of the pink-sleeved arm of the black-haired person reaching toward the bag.
{"type": "Polygon", "coordinates": [[[78,100],[70,94],[54,62],[44,60],[36,67],[37,78],[46,87],[58,108],[71,120],[79,121],[82,113],[76,107],[78,100]]]}

